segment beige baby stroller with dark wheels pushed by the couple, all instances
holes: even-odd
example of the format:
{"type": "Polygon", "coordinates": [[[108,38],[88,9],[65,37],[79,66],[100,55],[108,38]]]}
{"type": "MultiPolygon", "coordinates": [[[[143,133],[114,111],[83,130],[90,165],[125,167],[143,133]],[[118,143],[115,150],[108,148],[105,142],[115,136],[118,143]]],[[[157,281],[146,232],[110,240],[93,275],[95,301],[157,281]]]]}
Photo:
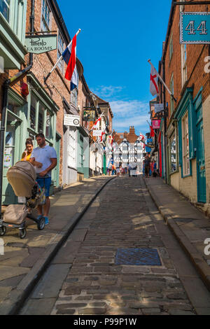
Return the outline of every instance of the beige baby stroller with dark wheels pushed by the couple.
{"type": "Polygon", "coordinates": [[[45,228],[45,218],[36,219],[31,210],[45,202],[45,190],[36,183],[36,170],[30,162],[19,161],[8,169],[6,174],[17,197],[25,197],[25,204],[10,204],[0,220],[0,236],[6,234],[6,228],[19,228],[19,237],[24,239],[26,219],[29,218],[37,224],[38,230],[45,228]]]}

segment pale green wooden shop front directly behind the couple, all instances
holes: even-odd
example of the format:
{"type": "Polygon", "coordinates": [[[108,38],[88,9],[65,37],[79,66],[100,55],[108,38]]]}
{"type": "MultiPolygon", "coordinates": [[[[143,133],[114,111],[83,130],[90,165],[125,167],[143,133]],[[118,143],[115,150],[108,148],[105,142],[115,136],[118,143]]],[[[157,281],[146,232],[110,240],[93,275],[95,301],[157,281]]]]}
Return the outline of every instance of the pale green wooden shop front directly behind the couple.
{"type": "MultiPolygon", "coordinates": [[[[27,137],[33,139],[35,148],[37,146],[35,136],[38,132],[42,132],[45,134],[47,144],[56,148],[56,113],[58,108],[31,74],[28,76],[29,95],[27,101],[12,88],[8,90],[3,154],[2,203],[5,205],[18,202],[18,198],[15,197],[6,179],[6,173],[10,167],[21,160],[27,137]]],[[[59,163],[59,158],[57,162],[59,163]]],[[[56,175],[56,170],[52,171],[52,188],[57,183],[56,175]]]]}

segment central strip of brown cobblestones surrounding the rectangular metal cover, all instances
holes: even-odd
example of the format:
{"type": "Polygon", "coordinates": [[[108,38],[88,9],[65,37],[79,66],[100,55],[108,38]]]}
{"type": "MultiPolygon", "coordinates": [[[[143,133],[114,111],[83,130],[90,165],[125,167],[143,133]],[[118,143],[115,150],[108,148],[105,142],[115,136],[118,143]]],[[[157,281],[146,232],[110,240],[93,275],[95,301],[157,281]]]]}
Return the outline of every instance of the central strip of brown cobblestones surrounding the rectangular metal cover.
{"type": "Polygon", "coordinates": [[[195,314],[144,193],[142,178],[119,178],[97,197],[51,314],[195,314]],[[119,248],[154,248],[161,266],[116,265],[119,248]]]}

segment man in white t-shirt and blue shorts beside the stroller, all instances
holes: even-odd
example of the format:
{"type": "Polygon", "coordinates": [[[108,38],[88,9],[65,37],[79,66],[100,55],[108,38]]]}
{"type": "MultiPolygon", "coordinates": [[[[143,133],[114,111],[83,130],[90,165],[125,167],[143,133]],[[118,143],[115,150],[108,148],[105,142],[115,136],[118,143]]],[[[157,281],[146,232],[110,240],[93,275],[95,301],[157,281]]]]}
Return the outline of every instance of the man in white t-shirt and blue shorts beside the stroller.
{"type": "Polygon", "coordinates": [[[55,148],[47,145],[44,134],[37,134],[36,141],[37,148],[31,153],[30,162],[35,165],[35,162],[41,162],[42,167],[36,167],[36,181],[41,188],[45,188],[46,203],[38,206],[38,219],[45,217],[45,225],[48,225],[48,214],[50,211],[50,186],[51,186],[51,172],[57,165],[57,154],[55,148]]]}

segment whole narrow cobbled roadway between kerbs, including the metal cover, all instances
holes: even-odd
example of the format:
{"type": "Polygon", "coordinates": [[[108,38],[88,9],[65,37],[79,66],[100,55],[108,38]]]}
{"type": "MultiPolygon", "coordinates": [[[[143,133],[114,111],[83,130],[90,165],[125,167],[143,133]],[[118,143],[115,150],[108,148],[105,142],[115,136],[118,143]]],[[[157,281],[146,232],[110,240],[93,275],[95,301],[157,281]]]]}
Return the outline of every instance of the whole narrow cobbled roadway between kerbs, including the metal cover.
{"type": "Polygon", "coordinates": [[[204,312],[200,299],[209,307],[208,290],[155,208],[143,177],[120,177],[81,218],[21,314],[42,314],[45,305],[48,314],[193,315],[204,312]],[[197,286],[186,291],[183,282],[190,279],[197,286]]]}

